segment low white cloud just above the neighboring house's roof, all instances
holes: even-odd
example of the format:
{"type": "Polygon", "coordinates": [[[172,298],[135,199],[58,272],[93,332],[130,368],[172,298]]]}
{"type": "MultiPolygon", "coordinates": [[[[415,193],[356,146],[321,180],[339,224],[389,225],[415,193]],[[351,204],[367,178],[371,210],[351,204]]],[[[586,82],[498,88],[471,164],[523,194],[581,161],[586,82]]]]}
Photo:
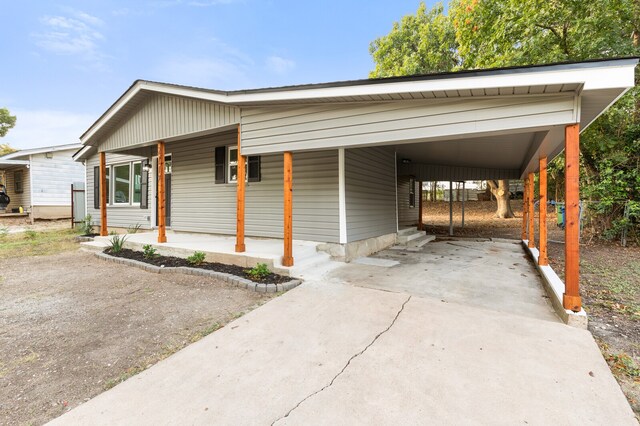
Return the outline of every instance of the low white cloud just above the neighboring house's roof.
{"type": "Polygon", "coordinates": [[[18,149],[79,143],[80,135],[98,117],[52,110],[12,109],[11,114],[17,117],[16,126],[0,139],[0,143],[18,149]]]}

